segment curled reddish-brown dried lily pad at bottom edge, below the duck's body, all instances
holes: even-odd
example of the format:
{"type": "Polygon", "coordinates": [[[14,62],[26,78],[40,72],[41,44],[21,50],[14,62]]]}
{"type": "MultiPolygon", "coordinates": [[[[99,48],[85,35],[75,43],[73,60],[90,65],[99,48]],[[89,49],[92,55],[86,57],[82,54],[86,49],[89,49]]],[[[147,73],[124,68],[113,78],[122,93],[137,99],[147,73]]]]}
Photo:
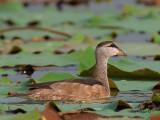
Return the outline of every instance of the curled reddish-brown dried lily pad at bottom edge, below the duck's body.
{"type": "MultiPolygon", "coordinates": [[[[121,104],[121,102],[120,102],[121,104]]],[[[127,116],[102,116],[89,111],[93,109],[81,109],[77,111],[62,112],[53,102],[47,103],[42,113],[41,120],[97,120],[97,119],[142,119],[141,117],[127,116]]]]}

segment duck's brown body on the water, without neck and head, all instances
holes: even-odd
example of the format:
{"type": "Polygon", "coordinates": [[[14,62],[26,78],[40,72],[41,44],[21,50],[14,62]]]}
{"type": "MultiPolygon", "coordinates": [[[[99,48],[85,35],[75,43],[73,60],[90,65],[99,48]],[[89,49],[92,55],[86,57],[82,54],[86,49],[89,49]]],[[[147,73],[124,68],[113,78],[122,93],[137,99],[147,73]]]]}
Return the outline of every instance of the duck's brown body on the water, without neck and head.
{"type": "Polygon", "coordinates": [[[35,100],[81,100],[108,97],[101,82],[93,79],[68,79],[28,85],[29,97],[35,100]]]}

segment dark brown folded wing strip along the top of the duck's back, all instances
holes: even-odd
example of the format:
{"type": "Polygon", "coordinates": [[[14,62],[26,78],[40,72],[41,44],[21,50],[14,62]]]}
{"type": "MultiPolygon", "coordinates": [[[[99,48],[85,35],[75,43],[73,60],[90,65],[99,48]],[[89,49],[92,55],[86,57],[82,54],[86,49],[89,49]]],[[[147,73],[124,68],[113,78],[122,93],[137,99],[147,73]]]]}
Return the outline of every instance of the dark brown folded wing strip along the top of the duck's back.
{"type": "Polygon", "coordinates": [[[85,84],[85,85],[90,85],[90,86],[93,86],[95,84],[102,85],[101,82],[99,82],[99,81],[97,81],[95,79],[66,79],[66,80],[59,80],[59,81],[52,81],[52,82],[30,84],[30,85],[26,85],[26,86],[30,87],[31,89],[39,89],[39,88],[50,89],[51,85],[53,85],[55,83],[62,83],[62,82],[80,83],[80,84],[85,84]]]}

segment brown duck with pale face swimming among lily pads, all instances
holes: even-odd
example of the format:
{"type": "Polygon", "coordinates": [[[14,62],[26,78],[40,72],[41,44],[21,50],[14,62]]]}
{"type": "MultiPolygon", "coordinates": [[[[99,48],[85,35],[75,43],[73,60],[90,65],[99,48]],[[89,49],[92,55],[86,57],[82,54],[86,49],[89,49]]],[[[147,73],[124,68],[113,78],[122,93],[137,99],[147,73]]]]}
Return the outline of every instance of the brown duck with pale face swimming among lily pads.
{"type": "Polygon", "coordinates": [[[110,97],[107,62],[111,56],[127,56],[115,42],[103,41],[95,49],[95,69],[90,79],[65,79],[29,84],[25,92],[34,100],[84,100],[110,97]]]}

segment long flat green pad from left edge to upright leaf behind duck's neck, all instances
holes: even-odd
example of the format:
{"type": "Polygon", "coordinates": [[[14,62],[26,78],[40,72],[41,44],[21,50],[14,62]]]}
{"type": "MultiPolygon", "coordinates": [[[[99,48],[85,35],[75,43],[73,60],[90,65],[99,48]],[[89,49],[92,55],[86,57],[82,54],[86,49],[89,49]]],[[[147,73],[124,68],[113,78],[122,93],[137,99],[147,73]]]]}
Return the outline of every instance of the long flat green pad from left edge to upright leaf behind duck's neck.
{"type": "Polygon", "coordinates": [[[27,52],[20,52],[15,55],[1,55],[0,66],[16,66],[27,65],[33,66],[65,66],[77,64],[82,51],[76,51],[70,54],[54,55],[53,53],[31,54],[27,52]]]}

